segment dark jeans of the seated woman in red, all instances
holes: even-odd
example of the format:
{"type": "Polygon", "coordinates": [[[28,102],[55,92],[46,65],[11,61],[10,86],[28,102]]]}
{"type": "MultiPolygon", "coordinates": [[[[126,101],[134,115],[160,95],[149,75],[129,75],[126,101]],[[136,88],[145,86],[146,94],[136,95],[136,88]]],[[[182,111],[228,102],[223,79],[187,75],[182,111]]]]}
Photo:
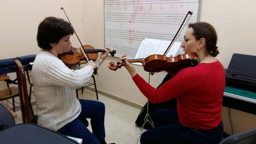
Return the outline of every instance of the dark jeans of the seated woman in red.
{"type": "Polygon", "coordinates": [[[173,109],[157,109],[154,112],[154,126],[141,135],[141,144],[215,144],[223,136],[222,122],[210,130],[185,127],[179,123],[177,110],[173,109]]]}

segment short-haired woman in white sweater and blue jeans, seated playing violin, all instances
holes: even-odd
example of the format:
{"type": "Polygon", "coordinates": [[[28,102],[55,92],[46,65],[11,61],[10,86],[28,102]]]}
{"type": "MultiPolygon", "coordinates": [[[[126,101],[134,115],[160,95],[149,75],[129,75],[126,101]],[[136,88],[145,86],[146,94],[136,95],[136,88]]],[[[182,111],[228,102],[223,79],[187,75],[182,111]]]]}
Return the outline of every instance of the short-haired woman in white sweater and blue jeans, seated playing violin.
{"type": "Polygon", "coordinates": [[[64,135],[83,139],[83,143],[106,144],[102,102],[76,98],[76,89],[85,85],[94,69],[98,70],[110,53],[104,48],[100,59],[86,66],[68,68],[58,58],[67,52],[73,34],[71,25],[61,18],[47,17],[38,26],[37,43],[41,48],[33,68],[38,125],[64,135]],[[91,118],[91,133],[81,122],[91,118]]]}

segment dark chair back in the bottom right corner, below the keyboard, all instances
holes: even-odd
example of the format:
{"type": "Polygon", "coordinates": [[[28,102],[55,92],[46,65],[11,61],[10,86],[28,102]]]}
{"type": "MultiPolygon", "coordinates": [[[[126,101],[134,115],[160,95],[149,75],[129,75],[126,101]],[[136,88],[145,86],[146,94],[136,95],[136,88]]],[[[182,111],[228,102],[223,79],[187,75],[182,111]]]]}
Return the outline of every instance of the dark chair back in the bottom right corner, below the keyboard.
{"type": "Polygon", "coordinates": [[[219,144],[256,144],[256,128],[229,136],[219,144]]]}

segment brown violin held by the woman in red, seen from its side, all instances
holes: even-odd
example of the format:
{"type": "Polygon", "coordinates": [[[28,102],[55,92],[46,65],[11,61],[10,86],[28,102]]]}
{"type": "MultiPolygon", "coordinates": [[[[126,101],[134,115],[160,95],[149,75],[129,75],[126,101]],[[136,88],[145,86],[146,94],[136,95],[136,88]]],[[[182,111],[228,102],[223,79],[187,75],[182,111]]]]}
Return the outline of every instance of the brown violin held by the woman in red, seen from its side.
{"type": "MultiPolygon", "coordinates": [[[[114,62],[109,63],[109,69],[117,70],[124,66],[124,60],[120,63],[115,64],[114,62]]],[[[144,70],[147,72],[157,72],[165,70],[168,73],[176,74],[180,69],[185,67],[191,67],[198,64],[196,54],[182,54],[176,57],[166,57],[166,55],[150,55],[146,58],[140,59],[129,59],[129,63],[142,63],[144,70]]]]}

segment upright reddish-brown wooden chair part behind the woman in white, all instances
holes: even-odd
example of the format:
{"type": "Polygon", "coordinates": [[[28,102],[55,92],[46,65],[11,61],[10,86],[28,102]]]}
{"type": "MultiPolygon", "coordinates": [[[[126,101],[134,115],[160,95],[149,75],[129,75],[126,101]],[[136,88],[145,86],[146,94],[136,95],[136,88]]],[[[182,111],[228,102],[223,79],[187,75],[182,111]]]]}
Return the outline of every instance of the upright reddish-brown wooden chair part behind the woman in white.
{"type": "Polygon", "coordinates": [[[18,81],[18,89],[19,89],[19,99],[20,99],[20,109],[22,113],[23,122],[32,123],[31,114],[28,100],[28,90],[27,90],[27,81],[26,75],[23,65],[19,62],[19,60],[15,60],[16,67],[16,75],[18,81]]]}

